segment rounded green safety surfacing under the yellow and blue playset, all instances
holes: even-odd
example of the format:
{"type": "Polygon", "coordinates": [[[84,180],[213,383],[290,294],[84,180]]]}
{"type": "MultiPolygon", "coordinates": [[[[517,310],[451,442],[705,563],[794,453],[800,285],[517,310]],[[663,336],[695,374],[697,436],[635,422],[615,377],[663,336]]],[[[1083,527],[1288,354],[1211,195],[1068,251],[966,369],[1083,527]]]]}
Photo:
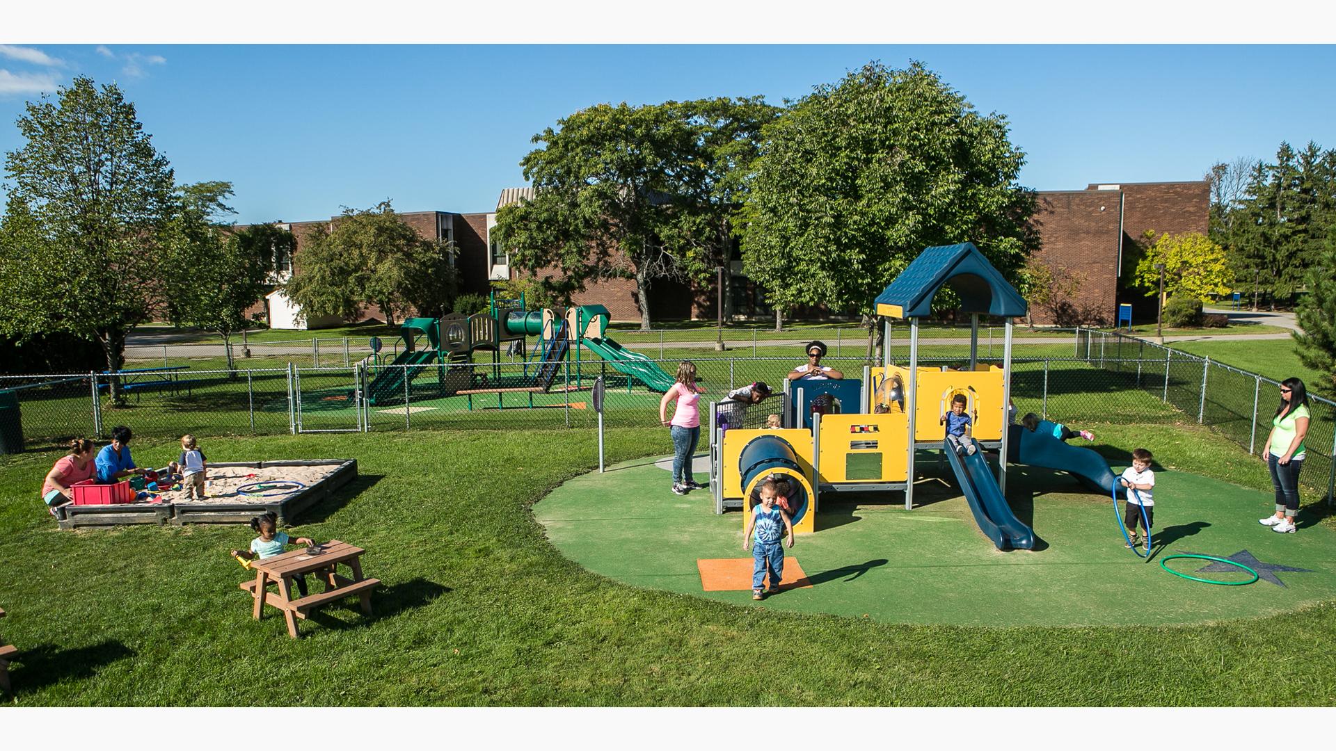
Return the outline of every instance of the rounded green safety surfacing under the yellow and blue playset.
{"type": "MultiPolygon", "coordinates": [[[[1112,501],[1065,473],[1010,468],[1013,509],[1042,540],[1035,551],[1014,552],[997,551],[979,532],[949,477],[947,469],[919,480],[914,510],[904,510],[900,493],[823,494],[816,533],[786,548],[786,560],[798,565],[790,572],[786,563],[784,588],[762,603],[751,599],[749,577],[737,576],[751,572],[741,513],[715,514],[709,490],[673,494],[668,472],[653,458],[570,480],[537,502],[534,516],[562,555],[635,587],[888,623],[1194,624],[1336,597],[1336,532],[1305,514],[1293,535],[1257,524],[1275,509],[1267,492],[1158,470],[1146,561],[1125,547],[1112,501]],[[1261,579],[1216,587],[1160,568],[1161,557],[1184,552],[1245,563],[1261,579]],[[705,576],[703,567],[711,568],[705,576]],[[729,576],[723,587],[732,588],[711,573],[729,576]]],[[[697,472],[696,480],[707,477],[697,472]]],[[[1250,577],[1204,560],[1168,565],[1221,581],[1250,577]]]]}

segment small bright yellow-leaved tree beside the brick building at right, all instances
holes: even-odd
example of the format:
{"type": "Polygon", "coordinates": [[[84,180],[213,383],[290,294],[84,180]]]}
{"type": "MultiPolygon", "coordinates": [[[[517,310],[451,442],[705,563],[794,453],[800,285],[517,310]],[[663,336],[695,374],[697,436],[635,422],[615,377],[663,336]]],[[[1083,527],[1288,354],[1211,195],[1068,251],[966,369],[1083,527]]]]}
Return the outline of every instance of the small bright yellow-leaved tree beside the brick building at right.
{"type": "Polygon", "coordinates": [[[1214,295],[1229,294],[1234,274],[1225,259],[1225,249],[1206,235],[1165,233],[1156,238],[1154,231],[1146,231],[1142,241],[1149,247],[1137,261],[1136,286],[1158,291],[1160,270],[1156,263],[1164,263],[1165,297],[1185,295],[1210,302],[1214,295]]]}

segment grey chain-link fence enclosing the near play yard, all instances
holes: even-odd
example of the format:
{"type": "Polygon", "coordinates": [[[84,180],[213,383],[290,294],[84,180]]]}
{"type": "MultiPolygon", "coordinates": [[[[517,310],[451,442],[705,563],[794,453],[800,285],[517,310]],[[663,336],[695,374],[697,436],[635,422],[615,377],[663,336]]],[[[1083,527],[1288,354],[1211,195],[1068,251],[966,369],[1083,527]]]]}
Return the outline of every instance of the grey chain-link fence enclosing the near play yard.
{"type": "MultiPolygon", "coordinates": [[[[1018,414],[1034,412],[1075,425],[1194,420],[1250,453],[1260,453],[1267,440],[1279,401],[1279,385],[1269,378],[1105,331],[1081,331],[1054,346],[1061,346],[1062,357],[1013,359],[1011,394],[1018,414]]],[[[921,363],[954,365],[969,353],[967,342],[942,347],[921,363]]],[[[906,353],[892,346],[898,365],[906,365],[906,353]]],[[[823,362],[856,378],[870,365],[860,354],[832,355],[823,362]]],[[[1001,351],[994,359],[998,355],[1001,351]]],[[[982,346],[979,357],[986,358],[982,346]]],[[[703,401],[724,401],[728,390],[755,381],[766,381],[779,393],[784,377],[800,363],[792,355],[691,359],[707,389],[703,401]]],[[[673,357],[644,361],[625,373],[585,353],[582,359],[568,358],[556,366],[505,357],[497,362],[373,365],[354,359],[349,350],[347,361],[319,367],[285,363],[228,371],[167,366],[130,369],[115,378],[100,373],[0,377],[0,424],[16,417],[31,446],[71,437],[106,438],[115,425],[156,437],[592,428],[597,421],[592,389],[601,376],[607,385],[605,425],[652,426],[660,418],[659,389],[672,382],[668,374],[677,363],[673,357]],[[4,392],[12,394],[7,398],[13,402],[13,414],[5,412],[4,392]]],[[[1320,397],[1311,397],[1311,402],[1307,464],[1327,478],[1323,484],[1329,496],[1336,481],[1336,404],[1320,397]]],[[[728,409],[736,410],[745,426],[764,425],[771,413],[782,412],[774,400],[728,409]]]]}

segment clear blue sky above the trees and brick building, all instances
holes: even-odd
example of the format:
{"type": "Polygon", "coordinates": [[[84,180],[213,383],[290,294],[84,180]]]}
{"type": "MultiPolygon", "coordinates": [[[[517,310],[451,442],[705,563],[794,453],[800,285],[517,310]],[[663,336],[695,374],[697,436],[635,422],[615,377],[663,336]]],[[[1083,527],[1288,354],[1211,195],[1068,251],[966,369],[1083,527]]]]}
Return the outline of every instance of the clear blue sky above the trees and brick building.
{"type": "Polygon", "coordinates": [[[1336,147],[1333,45],[0,45],[0,150],[27,99],[116,82],[178,182],[231,180],[238,222],[390,198],[488,211],[530,138],[599,102],[764,95],[921,60],[1027,155],[1025,186],[1200,179],[1281,140],[1336,147]]]}

